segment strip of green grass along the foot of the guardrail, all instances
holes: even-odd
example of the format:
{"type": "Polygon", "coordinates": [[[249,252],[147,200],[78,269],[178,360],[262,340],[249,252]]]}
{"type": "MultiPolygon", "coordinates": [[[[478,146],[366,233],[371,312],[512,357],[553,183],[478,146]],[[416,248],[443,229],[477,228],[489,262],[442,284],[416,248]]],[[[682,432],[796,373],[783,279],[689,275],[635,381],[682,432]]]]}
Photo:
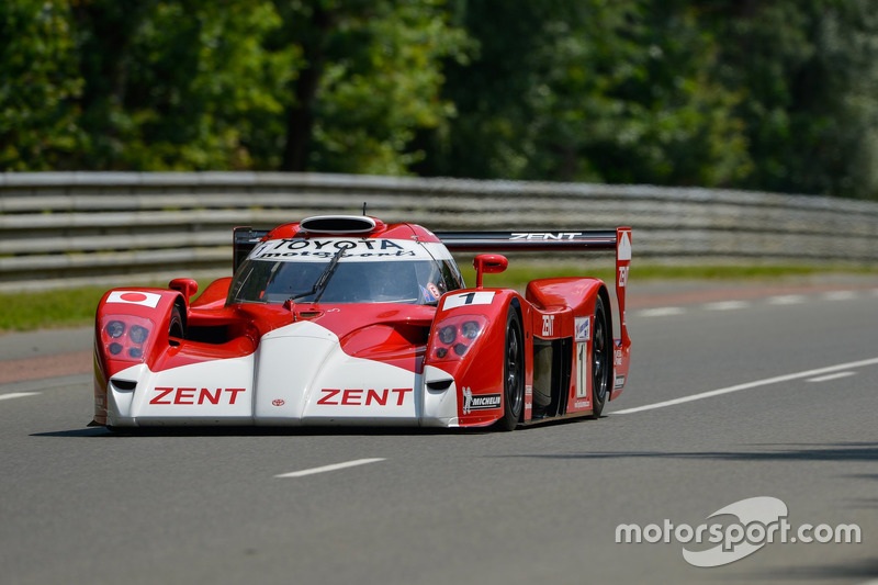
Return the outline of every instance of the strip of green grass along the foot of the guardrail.
{"type": "MultiPolygon", "coordinates": [[[[475,271],[469,263],[461,266],[470,286],[475,285],[475,271]]],[[[878,274],[876,268],[829,268],[809,266],[634,266],[632,281],[693,279],[693,280],[761,280],[788,277],[807,277],[821,273],[878,274]]],[[[555,262],[514,263],[502,274],[486,274],[485,286],[509,288],[524,291],[531,280],[556,277],[589,275],[605,281],[614,280],[612,268],[584,269],[582,266],[555,262]]],[[[203,290],[207,281],[200,281],[203,290]]],[[[154,284],[153,284],[154,285],[154,284]]],[[[0,333],[29,331],[57,327],[91,325],[94,310],[108,288],[88,286],[44,292],[0,294],[0,333]]]]}

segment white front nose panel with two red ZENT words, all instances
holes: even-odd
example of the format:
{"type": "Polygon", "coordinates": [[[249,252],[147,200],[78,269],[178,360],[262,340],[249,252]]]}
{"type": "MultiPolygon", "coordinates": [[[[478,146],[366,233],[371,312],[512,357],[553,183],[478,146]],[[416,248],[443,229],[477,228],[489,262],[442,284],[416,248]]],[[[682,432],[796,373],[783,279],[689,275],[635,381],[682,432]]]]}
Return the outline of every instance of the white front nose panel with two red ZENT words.
{"type": "MultiPolygon", "coordinates": [[[[450,379],[436,368],[425,374],[450,379]]],[[[249,356],[119,372],[108,387],[108,425],[457,426],[453,381],[425,391],[424,379],[348,356],[330,330],[300,322],[263,336],[249,356]]]]}

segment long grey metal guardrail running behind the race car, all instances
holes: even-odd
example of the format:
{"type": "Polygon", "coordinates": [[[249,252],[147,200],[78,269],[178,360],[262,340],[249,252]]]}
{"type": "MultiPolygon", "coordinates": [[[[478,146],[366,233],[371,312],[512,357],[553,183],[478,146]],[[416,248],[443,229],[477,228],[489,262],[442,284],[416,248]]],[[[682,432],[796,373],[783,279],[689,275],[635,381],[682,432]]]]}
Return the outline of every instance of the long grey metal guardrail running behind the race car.
{"type": "Polygon", "coordinates": [[[431,229],[631,225],[639,258],[878,261],[878,203],[747,191],[275,172],[0,175],[0,292],[227,274],[232,228],[368,213],[431,229]]]}

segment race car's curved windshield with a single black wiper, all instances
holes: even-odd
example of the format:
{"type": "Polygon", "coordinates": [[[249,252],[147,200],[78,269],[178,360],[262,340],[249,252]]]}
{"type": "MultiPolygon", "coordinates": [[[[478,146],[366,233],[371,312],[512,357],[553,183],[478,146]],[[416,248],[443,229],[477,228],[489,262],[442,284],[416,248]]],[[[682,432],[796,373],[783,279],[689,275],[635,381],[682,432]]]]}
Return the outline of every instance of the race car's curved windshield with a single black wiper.
{"type": "Polygon", "coordinates": [[[284,241],[291,244],[261,246],[241,263],[227,304],[280,304],[290,299],[299,303],[436,304],[446,292],[463,288],[450,256],[436,259],[417,244],[405,243],[405,254],[391,250],[392,256],[382,256],[363,251],[362,241],[344,248],[324,246],[319,252],[313,249],[315,240],[284,241]],[[312,249],[293,247],[289,251],[302,241],[312,243],[312,249]],[[340,249],[345,251],[339,254],[340,249]]]}

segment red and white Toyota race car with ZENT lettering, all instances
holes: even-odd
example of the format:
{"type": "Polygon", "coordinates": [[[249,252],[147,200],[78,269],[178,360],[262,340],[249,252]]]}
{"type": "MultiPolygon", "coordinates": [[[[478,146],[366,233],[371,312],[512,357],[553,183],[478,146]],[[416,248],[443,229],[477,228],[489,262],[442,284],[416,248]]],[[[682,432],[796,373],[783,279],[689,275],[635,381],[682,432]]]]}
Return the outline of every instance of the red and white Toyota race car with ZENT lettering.
{"type": "Polygon", "coordinates": [[[235,228],[233,275],[200,296],[106,292],[94,328],[94,420],[407,425],[511,430],[600,416],[624,386],[631,229],[437,233],[376,217],[235,228]],[[595,278],[484,286],[497,252],[615,250],[617,318],[595,278]],[[451,250],[475,256],[468,288],[451,250]],[[618,336],[614,322],[618,323],[618,336]]]}

